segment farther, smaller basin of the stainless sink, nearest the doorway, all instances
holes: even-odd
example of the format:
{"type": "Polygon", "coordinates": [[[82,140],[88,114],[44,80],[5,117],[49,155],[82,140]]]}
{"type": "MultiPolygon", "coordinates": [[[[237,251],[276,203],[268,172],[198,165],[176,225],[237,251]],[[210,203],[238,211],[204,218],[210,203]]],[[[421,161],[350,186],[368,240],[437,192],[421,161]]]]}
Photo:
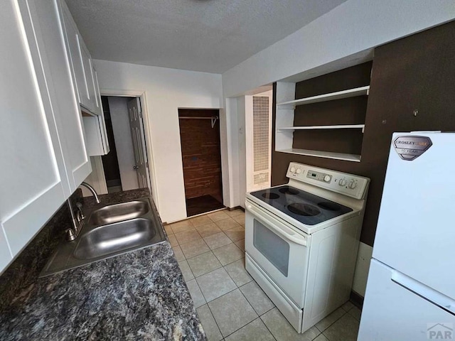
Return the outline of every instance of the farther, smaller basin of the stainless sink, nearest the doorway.
{"type": "Polygon", "coordinates": [[[122,202],[93,211],[88,223],[91,225],[113,224],[114,222],[141,217],[149,210],[149,205],[143,200],[122,202]]]}

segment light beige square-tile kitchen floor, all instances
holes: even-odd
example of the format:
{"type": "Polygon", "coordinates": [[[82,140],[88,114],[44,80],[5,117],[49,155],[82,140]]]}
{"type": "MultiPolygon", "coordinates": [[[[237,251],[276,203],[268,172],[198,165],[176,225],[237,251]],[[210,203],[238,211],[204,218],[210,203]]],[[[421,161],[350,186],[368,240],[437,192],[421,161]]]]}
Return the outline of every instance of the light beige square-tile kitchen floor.
{"type": "Polygon", "coordinates": [[[355,341],[360,309],[348,302],[303,334],[245,270],[245,213],[222,210],[165,226],[209,341],[355,341]]]}

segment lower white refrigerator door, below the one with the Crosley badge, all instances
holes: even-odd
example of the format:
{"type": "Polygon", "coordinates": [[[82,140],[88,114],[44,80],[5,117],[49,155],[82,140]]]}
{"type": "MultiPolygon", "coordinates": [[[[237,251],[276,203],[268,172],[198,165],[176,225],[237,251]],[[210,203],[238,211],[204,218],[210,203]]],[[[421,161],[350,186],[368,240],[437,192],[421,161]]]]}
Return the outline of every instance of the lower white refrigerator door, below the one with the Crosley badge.
{"type": "MultiPolygon", "coordinates": [[[[455,316],[413,292],[427,288],[395,282],[394,278],[401,281],[400,276],[379,261],[371,261],[358,341],[455,340],[455,316]]],[[[429,296],[432,301],[441,300],[429,296]]]]}

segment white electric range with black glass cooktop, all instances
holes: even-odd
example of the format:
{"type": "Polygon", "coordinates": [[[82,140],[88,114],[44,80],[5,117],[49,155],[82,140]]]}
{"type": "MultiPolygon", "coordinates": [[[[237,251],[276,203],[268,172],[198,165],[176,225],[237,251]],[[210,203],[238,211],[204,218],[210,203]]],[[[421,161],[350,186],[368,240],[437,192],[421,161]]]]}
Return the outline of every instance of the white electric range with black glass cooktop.
{"type": "Polygon", "coordinates": [[[304,332],[350,297],[370,179],[294,162],[287,178],[246,195],[245,266],[304,332]]]}

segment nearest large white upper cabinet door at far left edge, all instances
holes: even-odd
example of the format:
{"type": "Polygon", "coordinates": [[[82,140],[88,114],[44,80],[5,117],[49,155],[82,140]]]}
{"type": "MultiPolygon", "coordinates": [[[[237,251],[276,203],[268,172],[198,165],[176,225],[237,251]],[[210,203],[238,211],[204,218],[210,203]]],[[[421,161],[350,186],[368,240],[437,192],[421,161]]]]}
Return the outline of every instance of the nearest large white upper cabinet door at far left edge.
{"type": "Polygon", "coordinates": [[[0,271],[70,195],[29,4],[19,1],[19,12],[14,3],[4,1],[0,11],[0,256],[4,244],[9,253],[0,271]]]}

